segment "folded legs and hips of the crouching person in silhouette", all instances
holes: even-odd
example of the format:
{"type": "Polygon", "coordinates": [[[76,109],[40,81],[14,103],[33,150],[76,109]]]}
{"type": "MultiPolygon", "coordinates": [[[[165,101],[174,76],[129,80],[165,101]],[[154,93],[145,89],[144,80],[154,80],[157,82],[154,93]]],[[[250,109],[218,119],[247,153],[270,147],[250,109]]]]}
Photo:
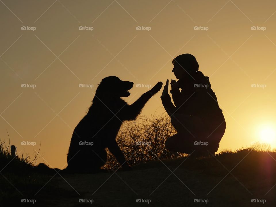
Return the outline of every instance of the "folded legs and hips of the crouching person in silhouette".
{"type": "MultiPolygon", "coordinates": [[[[212,128],[197,117],[174,114],[171,123],[177,134],[169,137],[165,142],[166,149],[173,152],[206,156],[214,154],[225,132],[225,121],[213,124],[212,128]]],[[[210,126],[210,123],[208,124],[210,126]]]]}

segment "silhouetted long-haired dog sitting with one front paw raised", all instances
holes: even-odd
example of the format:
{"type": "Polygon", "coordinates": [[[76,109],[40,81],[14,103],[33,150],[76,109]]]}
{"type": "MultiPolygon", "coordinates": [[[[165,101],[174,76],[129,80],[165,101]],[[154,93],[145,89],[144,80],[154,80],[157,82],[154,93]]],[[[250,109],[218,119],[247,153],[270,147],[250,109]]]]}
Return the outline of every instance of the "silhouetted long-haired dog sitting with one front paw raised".
{"type": "Polygon", "coordinates": [[[147,101],[162,88],[158,82],[143,93],[137,101],[128,105],[121,97],[131,95],[133,82],[108,76],[99,83],[87,114],[72,134],[67,170],[79,173],[95,173],[107,161],[106,148],[120,163],[122,170],[131,170],[116,142],[116,136],[124,121],[135,120],[147,101]]]}

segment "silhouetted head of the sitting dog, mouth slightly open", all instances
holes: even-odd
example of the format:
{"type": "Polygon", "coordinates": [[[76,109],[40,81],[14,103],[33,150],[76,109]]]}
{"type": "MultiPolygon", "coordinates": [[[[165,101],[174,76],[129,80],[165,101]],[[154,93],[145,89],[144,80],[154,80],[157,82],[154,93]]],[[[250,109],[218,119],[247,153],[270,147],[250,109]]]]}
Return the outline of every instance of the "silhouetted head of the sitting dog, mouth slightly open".
{"type": "Polygon", "coordinates": [[[133,82],[122,81],[116,76],[108,76],[101,80],[96,96],[109,96],[109,97],[128,97],[129,91],[133,87],[133,82]]]}

